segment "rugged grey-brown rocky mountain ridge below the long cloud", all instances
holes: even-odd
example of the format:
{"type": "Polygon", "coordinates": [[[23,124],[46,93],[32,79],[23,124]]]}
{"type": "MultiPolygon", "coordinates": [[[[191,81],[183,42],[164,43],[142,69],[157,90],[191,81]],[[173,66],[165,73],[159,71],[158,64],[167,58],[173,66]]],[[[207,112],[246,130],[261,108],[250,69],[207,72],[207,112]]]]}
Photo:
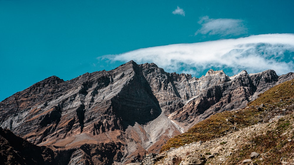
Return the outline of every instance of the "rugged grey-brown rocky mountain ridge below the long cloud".
{"type": "Polygon", "coordinates": [[[0,126],[50,148],[59,164],[125,164],[218,112],[244,108],[293,73],[167,73],[130,61],[64,81],[51,76],[0,103],[0,126]]]}

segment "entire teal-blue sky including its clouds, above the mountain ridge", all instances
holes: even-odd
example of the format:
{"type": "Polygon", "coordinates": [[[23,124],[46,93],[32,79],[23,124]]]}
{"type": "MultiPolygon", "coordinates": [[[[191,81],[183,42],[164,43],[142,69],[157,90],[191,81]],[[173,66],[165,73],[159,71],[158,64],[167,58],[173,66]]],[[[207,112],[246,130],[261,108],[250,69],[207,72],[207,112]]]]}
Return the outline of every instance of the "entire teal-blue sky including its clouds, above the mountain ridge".
{"type": "Polygon", "coordinates": [[[196,77],[210,68],[293,72],[293,8],[292,0],[0,0],[0,101],[52,75],[69,80],[130,59],[196,77]]]}

